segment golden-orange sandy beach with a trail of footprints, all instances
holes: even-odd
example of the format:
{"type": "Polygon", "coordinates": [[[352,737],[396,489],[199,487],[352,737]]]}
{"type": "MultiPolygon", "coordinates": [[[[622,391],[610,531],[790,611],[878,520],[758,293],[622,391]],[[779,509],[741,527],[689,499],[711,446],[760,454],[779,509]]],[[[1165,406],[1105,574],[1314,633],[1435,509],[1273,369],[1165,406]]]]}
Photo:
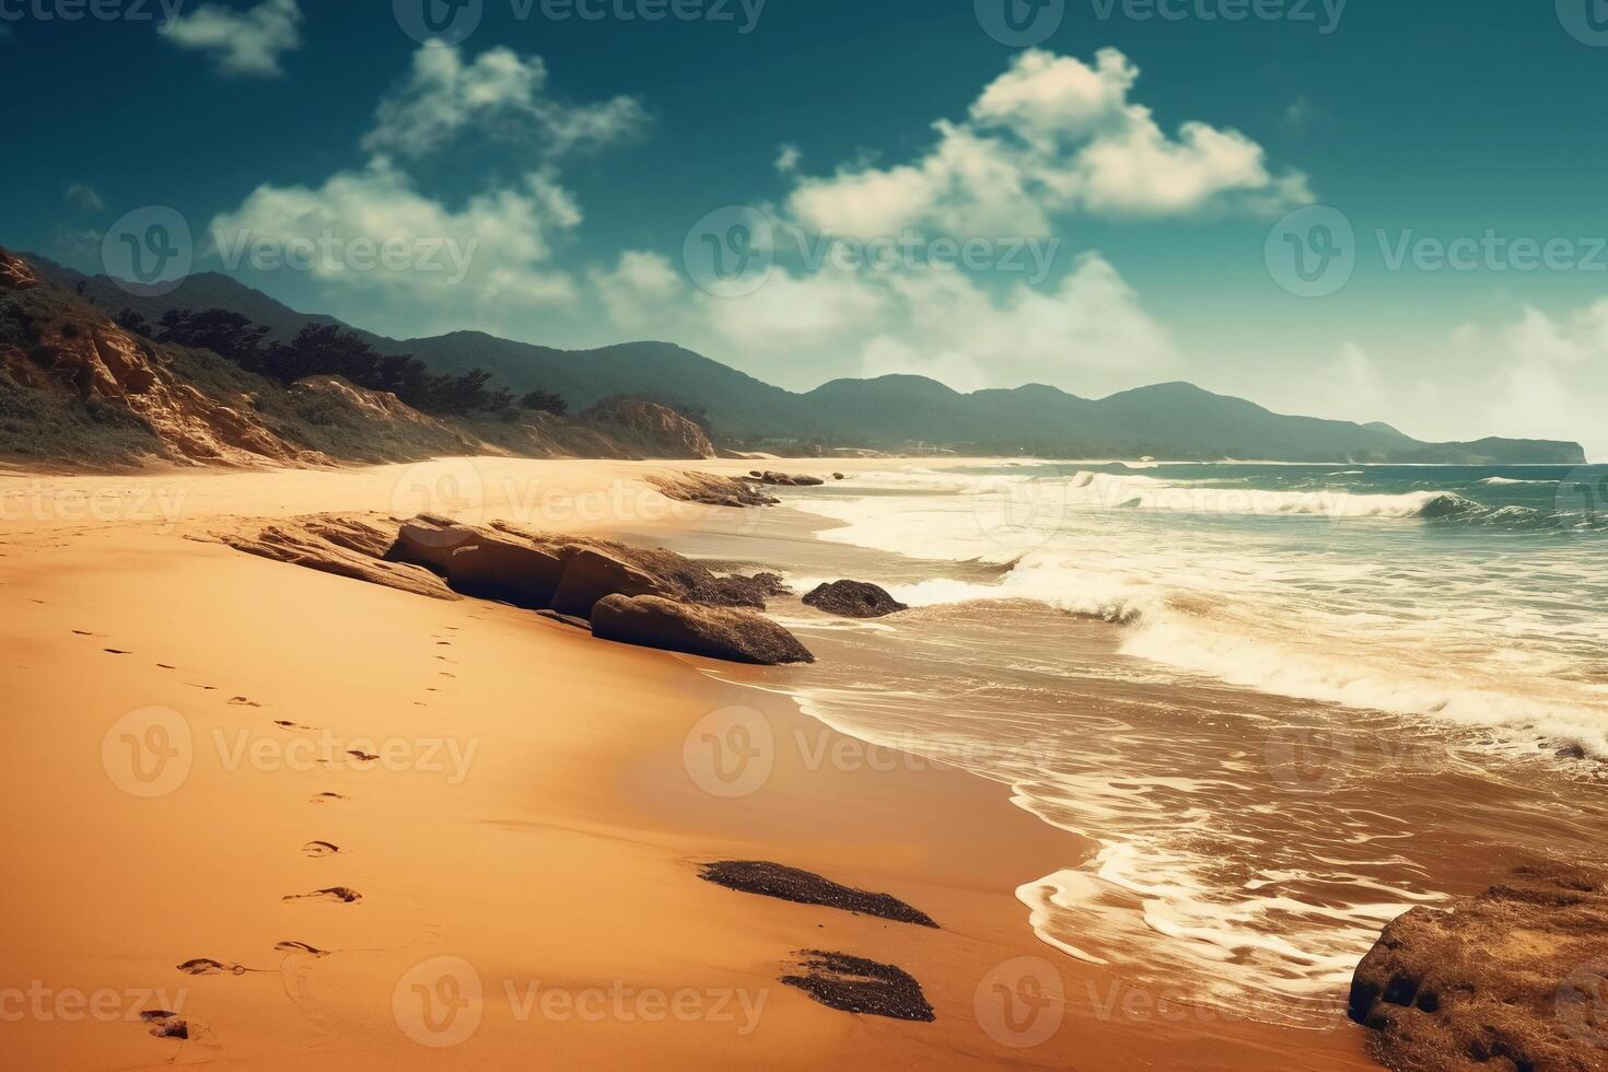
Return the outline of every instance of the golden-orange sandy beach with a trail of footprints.
{"type": "MultiPolygon", "coordinates": [[[[828,474],[889,460],[786,464],[828,474]]],[[[58,506],[8,508],[0,529],[14,653],[3,680],[18,714],[0,776],[34,815],[13,844],[32,866],[0,902],[29,926],[0,951],[0,979],[37,979],[58,996],[109,990],[130,1004],[129,992],[185,990],[174,1011],[196,1025],[188,1040],[153,1038],[125,1016],[72,1019],[53,1006],[0,1027],[8,1053],[53,1067],[532,1056],[635,1067],[648,1051],[672,1067],[883,1067],[912,1056],[942,1067],[1373,1067],[1349,1024],[1278,1029],[1174,1004],[1042,945],[1015,890],[1066,863],[1066,834],[997,783],[809,718],[772,688],[786,670],[722,667],[748,686],[720,683],[703,661],[595,641],[507,606],[431,601],[204,542],[241,518],[416,511],[418,489],[447,479],[468,521],[640,538],[643,524],[685,518],[642,482],[672,468],[753,463],[0,477],[0,500],[47,484],[34,505],[58,506]],[[556,498],[544,503],[548,492],[556,498]],[[74,500],[116,516],[59,509],[74,500]],[[642,516],[622,516],[621,501],[642,516]],[[648,518],[650,506],[662,516],[648,518]],[[103,743],[119,718],[153,707],[190,728],[191,762],[180,784],[145,799],[116,784],[103,743]],[[730,728],[733,715],[719,712],[733,707],[772,734],[773,762],[749,791],[719,796],[695,775],[688,743],[730,728]],[[285,746],[309,736],[383,759],[351,763],[330,747],[318,755],[330,762],[302,763],[285,746]],[[400,746],[394,768],[388,744],[400,746]],[[346,799],[314,804],[322,792],[346,799]],[[317,839],[341,852],[304,853],[317,839]],[[701,882],[695,865],[720,858],[892,894],[941,929],[701,882]],[[336,886],[362,900],[281,900],[336,886]],[[275,950],[281,942],[328,955],[275,950]],[[780,985],[802,948],[897,964],[923,984],[936,1021],[839,1013],[780,985]],[[264,971],[175,969],[191,958],[264,971]],[[429,1043],[463,1030],[473,1004],[450,1024],[408,1006],[415,985],[452,996],[437,985],[449,976],[466,993],[473,980],[439,958],[468,964],[481,985],[478,1024],[455,1045],[429,1043]],[[1056,987],[1058,1006],[1002,1004],[1056,987]]]]}

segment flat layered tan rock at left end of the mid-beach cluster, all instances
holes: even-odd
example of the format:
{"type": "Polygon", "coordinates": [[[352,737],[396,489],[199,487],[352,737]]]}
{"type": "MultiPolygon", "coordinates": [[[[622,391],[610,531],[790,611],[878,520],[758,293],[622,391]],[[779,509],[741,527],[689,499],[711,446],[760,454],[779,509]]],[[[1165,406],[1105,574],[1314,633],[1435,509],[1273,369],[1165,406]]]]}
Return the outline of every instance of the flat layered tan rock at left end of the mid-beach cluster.
{"type": "Polygon", "coordinates": [[[383,559],[391,534],[363,521],[339,516],[275,522],[256,535],[220,534],[219,540],[248,554],[304,566],[336,577],[412,591],[433,599],[458,596],[420,566],[383,559]]]}

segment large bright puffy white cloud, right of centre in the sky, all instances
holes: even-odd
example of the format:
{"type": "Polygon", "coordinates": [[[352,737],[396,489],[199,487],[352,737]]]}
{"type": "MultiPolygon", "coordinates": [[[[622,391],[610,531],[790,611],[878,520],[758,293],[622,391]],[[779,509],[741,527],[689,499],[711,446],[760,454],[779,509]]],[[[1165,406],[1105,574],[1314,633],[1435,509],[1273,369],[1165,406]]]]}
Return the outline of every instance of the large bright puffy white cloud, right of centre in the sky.
{"type": "Polygon", "coordinates": [[[798,182],[788,209],[804,227],[894,235],[1044,235],[1056,215],[1256,212],[1311,201],[1299,172],[1274,175],[1237,130],[1185,122],[1169,137],[1129,100],[1138,69],[1114,48],[1093,66],[1044,50],[1018,55],[965,122],[939,121],[912,164],[844,167],[798,182]]]}

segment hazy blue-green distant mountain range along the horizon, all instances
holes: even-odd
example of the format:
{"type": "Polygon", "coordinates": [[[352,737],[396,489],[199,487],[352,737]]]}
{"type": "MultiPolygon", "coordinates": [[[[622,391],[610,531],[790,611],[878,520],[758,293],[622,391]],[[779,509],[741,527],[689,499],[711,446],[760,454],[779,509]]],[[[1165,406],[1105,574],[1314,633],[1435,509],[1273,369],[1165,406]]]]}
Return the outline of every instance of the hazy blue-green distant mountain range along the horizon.
{"type": "MultiPolygon", "coordinates": [[[[172,294],[133,297],[106,276],[85,276],[31,256],[53,281],[77,288],[109,313],[133,309],[156,321],[169,309],[227,309],[288,339],[304,325],[339,323],[302,313],[233,278],[203,273],[172,294]]],[[[428,339],[357,334],[388,354],[413,354],[444,373],[482,368],[516,394],[542,387],[572,408],[605,399],[659,402],[703,419],[717,442],[778,450],[912,447],[976,455],[1053,458],[1249,458],[1270,461],[1396,461],[1450,464],[1579,464],[1579,444],[1479,439],[1428,444],[1388,424],[1354,424],[1272,413],[1187,383],[1081,399],[1029,384],[960,394],[923,376],[835,379],[793,392],[671,342],[560,350],[455,331],[428,339]]]]}

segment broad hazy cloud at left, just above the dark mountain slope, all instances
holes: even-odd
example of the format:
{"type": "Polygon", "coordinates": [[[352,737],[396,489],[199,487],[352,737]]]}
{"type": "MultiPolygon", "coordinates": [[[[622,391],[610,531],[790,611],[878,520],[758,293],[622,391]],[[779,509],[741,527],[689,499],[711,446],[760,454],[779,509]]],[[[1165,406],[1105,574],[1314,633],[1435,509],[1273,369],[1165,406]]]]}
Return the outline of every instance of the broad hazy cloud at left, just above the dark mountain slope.
{"type": "Polygon", "coordinates": [[[230,268],[302,272],[461,310],[572,301],[574,281],[547,262],[553,243],[579,223],[574,198],[552,172],[531,172],[518,186],[492,188],[449,209],[376,158],[317,188],[259,186],[212,220],[212,235],[230,268]],[[259,246],[272,251],[272,260],[257,257],[259,246]],[[370,251],[392,254],[388,260],[370,251]]]}

